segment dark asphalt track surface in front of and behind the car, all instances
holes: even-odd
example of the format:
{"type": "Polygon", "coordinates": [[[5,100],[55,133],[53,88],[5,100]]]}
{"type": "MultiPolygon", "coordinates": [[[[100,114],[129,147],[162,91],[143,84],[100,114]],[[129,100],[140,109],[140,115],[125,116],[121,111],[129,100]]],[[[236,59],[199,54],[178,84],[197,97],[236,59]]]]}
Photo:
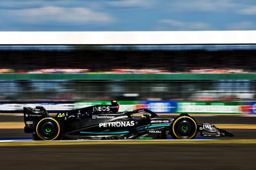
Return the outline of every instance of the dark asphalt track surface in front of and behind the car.
{"type": "MultiPolygon", "coordinates": [[[[22,121],[21,116],[0,116],[22,121]]],[[[202,123],[256,124],[256,117],[196,117],[202,123]]],[[[0,169],[256,169],[256,130],[227,129],[253,143],[98,143],[0,146],[0,169]]],[[[31,137],[22,129],[0,129],[3,137],[31,137]]],[[[177,141],[177,140],[176,140],[177,141]]],[[[193,140],[191,140],[193,141],[193,140]]],[[[204,140],[207,141],[207,140],[204,140]]],[[[219,140],[218,140],[219,141],[219,140]]],[[[58,143],[58,142],[57,142],[58,143]]]]}

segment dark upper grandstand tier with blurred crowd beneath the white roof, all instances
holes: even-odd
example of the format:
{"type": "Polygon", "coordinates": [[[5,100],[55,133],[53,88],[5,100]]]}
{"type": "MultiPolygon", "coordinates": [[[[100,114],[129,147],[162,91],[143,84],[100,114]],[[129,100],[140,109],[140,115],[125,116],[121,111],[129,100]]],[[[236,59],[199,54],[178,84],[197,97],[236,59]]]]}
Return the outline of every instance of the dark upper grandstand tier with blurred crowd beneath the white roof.
{"type": "Polygon", "coordinates": [[[256,45],[0,46],[0,73],[254,73],[256,45]]]}

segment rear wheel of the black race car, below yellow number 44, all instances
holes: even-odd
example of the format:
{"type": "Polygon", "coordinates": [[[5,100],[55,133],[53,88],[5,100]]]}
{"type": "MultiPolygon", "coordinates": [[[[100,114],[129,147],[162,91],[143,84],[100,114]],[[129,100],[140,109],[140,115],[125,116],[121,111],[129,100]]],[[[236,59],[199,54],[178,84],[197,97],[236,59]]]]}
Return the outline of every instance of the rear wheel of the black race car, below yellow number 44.
{"type": "Polygon", "coordinates": [[[60,136],[60,124],[54,118],[44,118],[36,125],[36,135],[44,141],[53,141],[60,136]]]}

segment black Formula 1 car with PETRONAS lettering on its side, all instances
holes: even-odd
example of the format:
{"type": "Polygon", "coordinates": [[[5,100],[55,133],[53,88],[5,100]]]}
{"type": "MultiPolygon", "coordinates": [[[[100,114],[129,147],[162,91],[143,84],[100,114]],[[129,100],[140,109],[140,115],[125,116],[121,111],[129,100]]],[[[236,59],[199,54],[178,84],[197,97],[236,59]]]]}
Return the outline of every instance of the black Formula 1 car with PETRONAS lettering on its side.
{"type": "Polygon", "coordinates": [[[42,106],[24,107],[24,131],[33,140],[68,139],[193,139],[197,132],[205,137],[233,136],[209,123],[197,123],[188,114],[175,118],[159,117],[148,109],[118,112],[119,105],[93,105],[49,116],[42,106]],[[143,116],[136,113],[146,112],[143,116]]]}

